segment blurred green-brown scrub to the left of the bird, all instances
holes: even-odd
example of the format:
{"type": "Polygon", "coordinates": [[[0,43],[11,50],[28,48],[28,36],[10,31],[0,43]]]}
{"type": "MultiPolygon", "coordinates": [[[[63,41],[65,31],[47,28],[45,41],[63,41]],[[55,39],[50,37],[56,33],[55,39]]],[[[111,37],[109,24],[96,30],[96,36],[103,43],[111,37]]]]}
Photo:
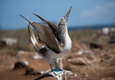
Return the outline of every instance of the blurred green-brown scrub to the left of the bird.
{"type": "Polygon", "coordinates": [[[6,37],[6,38],[15,38],[17,39],[17,43],[13,44],[11,46],[7,46],[5,49],[8,54],[13,55],[18,50],[24,50],[24,51],[34,51],[32,46],[29,46],[30,39],[28,35],[27,29],[19,29],[19,30],[2,30],[0,31],[0,39],[6,37]]]}

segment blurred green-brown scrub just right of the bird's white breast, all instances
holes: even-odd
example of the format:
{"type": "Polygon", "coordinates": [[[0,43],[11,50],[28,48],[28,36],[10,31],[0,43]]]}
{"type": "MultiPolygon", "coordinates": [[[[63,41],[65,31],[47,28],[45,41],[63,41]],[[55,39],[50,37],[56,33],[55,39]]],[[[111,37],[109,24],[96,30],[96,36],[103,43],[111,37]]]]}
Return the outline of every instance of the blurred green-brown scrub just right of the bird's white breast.
{"type": "Polygon", "coordinates": [[[78,40],[79,42],[85,43],[89,47],[89,43],[93,40],[93,35],[96,31],[92,29],[83,29],[77,31],[69,31],[69,35],[72,40],[78,40]]]}

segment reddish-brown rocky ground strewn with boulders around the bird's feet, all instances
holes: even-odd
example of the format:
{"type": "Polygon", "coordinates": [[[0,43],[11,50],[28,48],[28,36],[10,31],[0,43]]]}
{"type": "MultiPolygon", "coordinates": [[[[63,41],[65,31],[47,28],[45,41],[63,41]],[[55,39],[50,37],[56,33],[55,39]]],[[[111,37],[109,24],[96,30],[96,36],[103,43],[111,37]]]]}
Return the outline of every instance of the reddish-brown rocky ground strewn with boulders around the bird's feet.
{"type": "Polygon", "coordinates": [[[18,51],[10,56],[0,49],[0,80],[115,80],[115,44],[94,44],[98,47],[89,49],[76,40],[72,42],[70,54],[57,60],[64,69],[58,76],[35,52],[18,51]]]}

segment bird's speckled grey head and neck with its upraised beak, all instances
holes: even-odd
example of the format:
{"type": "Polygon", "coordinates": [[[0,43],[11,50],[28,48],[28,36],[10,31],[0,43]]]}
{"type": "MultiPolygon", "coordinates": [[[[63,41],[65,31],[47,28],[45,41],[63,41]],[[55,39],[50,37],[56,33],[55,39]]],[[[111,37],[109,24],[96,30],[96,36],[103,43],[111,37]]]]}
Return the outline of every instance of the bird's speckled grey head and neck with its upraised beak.
{"type": "Polygon", "coordinates": [[[58,38],[61,40],[62,47],[65,45],[65,30],[67,30],[67,22],[69,18],[70,11],[72,6],[69,8],[68,12],[64,17],[62,17],[58,23],[58,38]]]}

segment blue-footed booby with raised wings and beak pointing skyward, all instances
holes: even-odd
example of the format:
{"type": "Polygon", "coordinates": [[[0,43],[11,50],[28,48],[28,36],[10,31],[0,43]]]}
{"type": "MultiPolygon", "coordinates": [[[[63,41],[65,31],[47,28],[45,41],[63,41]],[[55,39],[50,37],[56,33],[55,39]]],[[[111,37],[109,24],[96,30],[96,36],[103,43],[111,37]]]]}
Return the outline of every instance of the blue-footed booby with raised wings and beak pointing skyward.
{"type": "Polygon", "coordinates": [[[27,20],[22,15],[20,15],[25,20],[27,20],[28,32],[35,52],[48,61],[51,67],[51,71],[56,75],[63,71],[58,67],[56,59],[65,57],[70,52],[72,47],[72,42],[67,29],[68,17],[71,8],[72,6],[70,7],[66,15],[60,19],[58,26],[43,19],[37,14],[34,15],[48,24],[49,27],[37,22],[31,23],[29,19],[27,20]],[[38,40],[35,38],[31,25],[37,32],[38,40]],[[53,69],[52,62],[55,63],[56,69],[53,69]]]}

